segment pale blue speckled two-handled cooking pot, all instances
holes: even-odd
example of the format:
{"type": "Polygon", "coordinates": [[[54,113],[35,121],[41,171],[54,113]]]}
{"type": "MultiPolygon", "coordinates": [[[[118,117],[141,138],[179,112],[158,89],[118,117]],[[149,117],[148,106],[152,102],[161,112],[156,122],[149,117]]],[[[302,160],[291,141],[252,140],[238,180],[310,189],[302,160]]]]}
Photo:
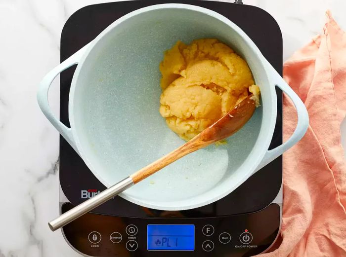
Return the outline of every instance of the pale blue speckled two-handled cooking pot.
{"type": "Polygon", "coordinates": [[[141,8],[116,20],[40,84],[43,113],[108,187],[184,143],[159,113],[158,67],[177,40],[206,37],[218,38],[245,58],[260,87],[261,106],[226,145],[191,153],[120,194],[130,202],[186,210],[224,197],[303,137],[308,126],[303,102],[238,26],[209,9],[176,3],[141,8]],[[68,128],[53,115],[47,93],[57,74],[75,64],[68,128]],[[287,142],[267,150],[276,121],[275,86],[291,98],[298,124],[287,142]]]}

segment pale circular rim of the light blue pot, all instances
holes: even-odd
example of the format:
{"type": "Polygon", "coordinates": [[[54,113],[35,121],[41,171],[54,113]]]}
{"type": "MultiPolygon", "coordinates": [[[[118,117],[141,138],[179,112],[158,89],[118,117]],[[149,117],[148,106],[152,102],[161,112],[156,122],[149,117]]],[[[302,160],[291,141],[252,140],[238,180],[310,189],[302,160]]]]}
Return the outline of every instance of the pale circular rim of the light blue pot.
{"type": "MultiPolygon", "coordinates": [[[[181,4],[181,3],[164,3],[164,4],[156,4],[156,5],[151,5],[147,7],[143,7],[140,9],[137,9],[135,11],[132,11],[123,17],[119,18],[118,20],[114,21],[112,24],[110,24],[106,29],[104,29],[95,39],[93,39],[87,46],[86,51],[84,52],[79,64],[77,65],[76,71],[73,75],[72,82],[71,82],[71,88],[70,88],[70,94],[69,94],[69,120],[70,120],[70,125],[71,125],[71,132],[73,135],[73,138],[75,140],[75,145],[76,148],[78,149],[79,155],[82,157],[84,162],[87,164],[87,167],[90,169],[90,171],[93,173],[93,175],[105,186],[109,187],[112,184],[108,183],[105,181],[99,173],[97,173],[96,169],[93,167],[92,163],[88,160],[87,155],[83,151],[83,147],[81,146],[77,131],[75,130],[75,120],[74,120],[74,98],[75,98],[75,89],[78,81],[78,76],[81,70],[83,69],[83,63],[87,59],[88,54],[92,51],[93,47],[104,37],[106,34],[108,34],[110,31],[112,31],[117,25],[125,22],[126,20],[130,19],[133,16],[136,16],[138,14],[144,13],[144,12],[149,12],[157,9],[188,9],[192,11],[197,11],[204,13],[206,15],[212,16],[221,22],[225,23],[227,26],[229,26],[231,29],[233,29],[240,37],[243,38],[243,40],[248,44],[249,48],[251,48],[254,51],[254,54],[257,55],[259,60],[261,61],[263,65],[263,70],[266,73],[266,76],[268,78],[268,81],[271,82],[273,81],[273,74],[270,72],[273,70],[273,68],[270,66],[270,64],[267,62],[267,60],[264,58],[264,56],[261,54],[259,51],[259,48],[256,46],[256,44],[251,40],[250,37],[248,37],[245,32],[243,32],[236,24],[234,24],[232,21],[224,17],[223,15],[212,11],[210,9],[200,7],[200,6],[195,6],[195,5],[190,5],[190,4],[181,4]]],[[[247,171],[247,173],[244,173],[242,176],[242,179],[239,180],[237,183],[233,184],[233,186],[229,187],[228,190],[224,190],[221,194],[218,194],[214,198],[210,198],[207,201],[193,201],[191,199],[184,199],[184,200],[179,200],[175,201],[180,204],[175,204],[174,206],[171,206],[170,204],[167,204],[167,202],[156,202],[156,204],[151,204],[148,201],[140,201],[135,197],[130,196],[127,194],[126,191],[122,192],[119,194],[119,196],[123,197],[126,200],[129,200],[132,203],[147,207],[147,208],[152,208],[152,209],[158,209],[158,210],[187,210],[187,209],[193,209],[197,207],[201,207],[210,203],[213,203],[230,192],[232,192],[235,188],[237,188],[239,185],[243,184],[256,170],[256,168],[259,166],[260,161],[263,159],[269,145],[272,139],[272,135],[274,132],[275,128],[275,122],[276,122],[276,111],[277,111],[277,102],[276,102],[276,92],[275,92],[275,87],[271,84],[267,85],[269,88],[270,92],[270,98],[272,99],[271,101],[271,106],[267,107],[267,110],[271,110],[271,115],[268,115],[270,119],[267,119],[266,122],[269,122],[269,130],[266,132],[266,137],[263,138],[263,141],[260,143],[264,144],[261,145],[262,150],[260,150],[260,154],[256,155],[256,160],[254,160],[253,164],[250,166],[247,171]],[[250,168],[251,167],[251,168],[250,168]]],[[[262,121],[263,123],[263,121],[262,121]]],[[[262,128],[262,126],[261,126],[262,128]]],[[[259,142],[257,141],[255,146],[258,145],[259,142]]],[[[197,196],[196,196],[197,197],[197,196]]],[[[170,202],[172,203],[172,202],[170,202]]]]}

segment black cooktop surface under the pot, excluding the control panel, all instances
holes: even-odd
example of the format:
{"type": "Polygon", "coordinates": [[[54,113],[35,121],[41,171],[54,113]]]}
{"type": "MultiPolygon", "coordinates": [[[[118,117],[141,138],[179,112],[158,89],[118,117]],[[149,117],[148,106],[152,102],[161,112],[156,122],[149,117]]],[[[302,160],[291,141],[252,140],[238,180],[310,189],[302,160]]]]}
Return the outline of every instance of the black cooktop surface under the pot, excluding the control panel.
{"type": "MultiPolygon", "coordinates": [[[[136,0],[90,5],[75,12],[61,34],[61,61],[94,39],[121,16],[148,5],[179,2],[214,10],[237,24],[259,47],[278,73],[282,73],[282,35],[273,17],[255,6],[202,0],[136,0]],[[257,21],[257,22],[254,22],[257,21]]],[[[69,126],[68,96],[75,67],[61,73],[60,120],[69,126]]],[[[282,93],[277,89],[277,124],[270,148],[282,143],[282,93]]],[[[116,170],[116,167],[114,167],[116,170]]],[[[263,209],[279,192],[282,157],[277,158],[244,184],[215,203],[185,211],[159,211],[132,204],[117,196],[94,210],[95,213],[127,217],[218,217],[263,209]]],[[[102,191],[101,184],[70,145],[60,136],[60,184],[69,201],[77,205],[86,197],[102,191]]]]}

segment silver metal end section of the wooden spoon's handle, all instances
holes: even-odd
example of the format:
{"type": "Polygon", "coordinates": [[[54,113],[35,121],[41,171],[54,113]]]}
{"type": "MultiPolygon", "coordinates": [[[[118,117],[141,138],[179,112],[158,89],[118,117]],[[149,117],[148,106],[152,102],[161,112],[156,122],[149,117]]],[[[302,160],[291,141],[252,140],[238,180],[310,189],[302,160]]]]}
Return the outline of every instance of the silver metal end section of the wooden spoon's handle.
{"type": "Polygon", "coordinates": [[[76,220],[77,218],[81,217],[82,215],[86,214],[87,212],[91,211],[92,209],[96,208],[97,206],[103,204],[104,202],[108,201],[109,199],[113,198],[114,196],[118,195],[119,193],[123,192],[130,186],[132,186],[133,180],[131,177],[127,177],[126,179],[120,181],[117,184],[112,185],[111,187],[103,190],[99,194],[93,196],[92,198],[88,199],[87,201],[77,205],[73,209],[69,210],[68,212],[60,215],[58,218],[48,222],[48,226],[52,231],[55,231],[68,223],[72,222],[73,220],[76,220]]]}

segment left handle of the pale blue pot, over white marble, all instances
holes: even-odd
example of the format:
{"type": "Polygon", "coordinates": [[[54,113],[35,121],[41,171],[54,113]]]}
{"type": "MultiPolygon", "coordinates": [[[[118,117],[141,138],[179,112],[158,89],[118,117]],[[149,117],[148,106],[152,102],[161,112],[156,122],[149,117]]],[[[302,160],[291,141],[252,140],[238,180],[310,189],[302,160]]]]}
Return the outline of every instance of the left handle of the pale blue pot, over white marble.
{"type": "Polygon", "coordinates": [[[54,113],[49,107],[48,91],[49,91],[49,87],[51,83],[53,82],[53,80],[59,73],[79,63],[79,61],[81,60],[83,54],[85,53],[87,49],[87,46],[88,44],[84,46],[83,48],[81,48],[80,50],[78,50],[73,55],[71,55],[61,64],[56,66],[49,73],[47,73],[41,80],[39,84],[39,89],[37,92],[37,101],[39,102],[39,106],[43,114],[47,117],[50,123],[59,131],[59,133],[64,137],[64,139],[66,139],[66,141],[75,149],[76,152],[78,152],[78,150],[72,136],[71,128],[66,127],[58,118],[56,118],[54,113]]]}

